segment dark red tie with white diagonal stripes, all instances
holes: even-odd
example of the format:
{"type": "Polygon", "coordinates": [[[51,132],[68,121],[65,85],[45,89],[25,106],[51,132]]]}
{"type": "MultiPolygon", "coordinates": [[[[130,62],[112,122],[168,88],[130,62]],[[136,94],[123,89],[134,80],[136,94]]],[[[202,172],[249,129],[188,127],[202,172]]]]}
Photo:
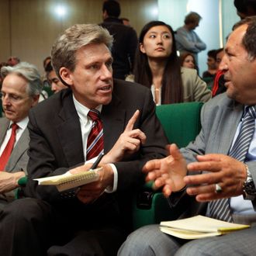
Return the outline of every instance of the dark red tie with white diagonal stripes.
{"type": "Polygon", "coordinates": [[[99,111],[91,109],[88,116],[92,119],[92,130],[87,140],[86,160],[97,157],[103,151],[103,127],[99,111]]]}

